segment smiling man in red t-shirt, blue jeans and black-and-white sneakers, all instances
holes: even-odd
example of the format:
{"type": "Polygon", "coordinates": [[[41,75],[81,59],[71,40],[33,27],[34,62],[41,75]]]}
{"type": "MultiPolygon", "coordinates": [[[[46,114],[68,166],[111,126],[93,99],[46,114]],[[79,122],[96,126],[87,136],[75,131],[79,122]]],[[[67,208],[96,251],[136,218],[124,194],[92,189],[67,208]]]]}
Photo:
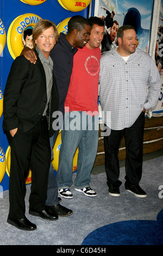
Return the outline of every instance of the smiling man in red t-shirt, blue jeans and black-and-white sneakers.
{"type": "Polygon", "coordinates": [[[90,188],[91,170],[98,147],[98,79],[104,22],[90,17],[90,40],[73,57],[73,70],[65,100],[64,125],[61,131],[61,147],[57,184],[61,197],[72,198],[73,157],[78,152],[77,177],[74,189],[86,196],[95,197],[90,188]]]}

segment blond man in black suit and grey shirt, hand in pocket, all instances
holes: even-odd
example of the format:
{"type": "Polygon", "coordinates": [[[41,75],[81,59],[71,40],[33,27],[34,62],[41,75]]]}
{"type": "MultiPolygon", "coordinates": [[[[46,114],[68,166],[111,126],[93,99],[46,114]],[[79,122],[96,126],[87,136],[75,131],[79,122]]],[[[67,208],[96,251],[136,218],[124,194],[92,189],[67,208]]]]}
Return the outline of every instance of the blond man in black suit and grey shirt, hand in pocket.
{"type": "Polygon", "coordinates": [[[37,63],[17,57],[4,90],[3,129],[11,146],[8,223],[22,230],[36,229],[25,216],[29,168],[32,170],[29,214],[45,220],[58,219],[45,209],[51,162],[47,113],[49,105],[53,112],[58,110],[58,91],[49,54],[58,39],[54,22],[37,22],[33,29],[37,63]]]}

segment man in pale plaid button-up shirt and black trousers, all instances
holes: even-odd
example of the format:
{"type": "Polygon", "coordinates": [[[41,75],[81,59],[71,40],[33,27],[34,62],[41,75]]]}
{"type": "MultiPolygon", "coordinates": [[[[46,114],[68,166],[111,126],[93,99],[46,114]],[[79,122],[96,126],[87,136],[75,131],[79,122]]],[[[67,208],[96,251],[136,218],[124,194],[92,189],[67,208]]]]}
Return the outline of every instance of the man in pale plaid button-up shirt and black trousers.
{"type": "Polygon", "coordinates": [[[109,194],[120,196],[118,149],[126,143],[125,188],[136,197],[147,193],[139,183],[142,176],[145,111],[153,108],[160,95],[160,76],[151,56],[137,48],[135,29],[122,26],[117,32],[118,47],[102,55],[99,97],[103,123],[111,129],[104,136],[105,171],[109,194]],[[147,94],[148,86],[148,94],[147,94]],[[111,121],[107,122],[107,112],[111,121]]]}

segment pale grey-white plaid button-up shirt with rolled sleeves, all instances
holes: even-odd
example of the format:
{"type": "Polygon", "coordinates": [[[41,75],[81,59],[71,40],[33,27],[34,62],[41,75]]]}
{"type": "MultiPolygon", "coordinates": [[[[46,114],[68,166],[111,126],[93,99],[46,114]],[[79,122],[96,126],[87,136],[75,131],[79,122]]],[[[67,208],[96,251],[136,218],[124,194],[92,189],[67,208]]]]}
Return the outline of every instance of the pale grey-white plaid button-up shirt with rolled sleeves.
{"type": "Polygon", "coordinates": [[[145,107],[153,108],[160,96],[160,76],[149,54],[139,48],[127,62],[116,49],[101,57],[99,74],[99,98],[103,122],[111,112],[107,125],[113,130],[123,130],[134,124],[145,107]],[[147,94],[148,87],[148,94],[147,94]]]}

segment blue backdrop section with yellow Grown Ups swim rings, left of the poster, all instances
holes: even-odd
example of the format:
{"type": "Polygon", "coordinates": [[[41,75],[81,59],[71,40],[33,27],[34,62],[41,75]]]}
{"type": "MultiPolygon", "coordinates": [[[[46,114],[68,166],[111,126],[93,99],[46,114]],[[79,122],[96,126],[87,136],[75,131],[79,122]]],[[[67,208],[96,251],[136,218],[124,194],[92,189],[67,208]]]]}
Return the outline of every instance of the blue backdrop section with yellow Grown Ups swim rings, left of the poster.
{"type": "MultiPolygon", "coordinates": [[[[54,21],[59,33],[67,33],[67,23],[74,15],[87,17],[91,0],[0,0],[0,192],[8,190],[10,176],[10,145],[3,133],[3,92],[11,64],[20,55],[26,40],[24,31],[33,29],[40,19],[54,21]]],[[[59,157],[60,134],[57,138],[55,155],[59,157]]],[[[57,169],[58,162],[53,162],[57,169]]],[[[74,157],[73,171],[76,170],[77,155],[74,157]]],[[[31,182],[31,171],[26,184],[31,182]]]]}

